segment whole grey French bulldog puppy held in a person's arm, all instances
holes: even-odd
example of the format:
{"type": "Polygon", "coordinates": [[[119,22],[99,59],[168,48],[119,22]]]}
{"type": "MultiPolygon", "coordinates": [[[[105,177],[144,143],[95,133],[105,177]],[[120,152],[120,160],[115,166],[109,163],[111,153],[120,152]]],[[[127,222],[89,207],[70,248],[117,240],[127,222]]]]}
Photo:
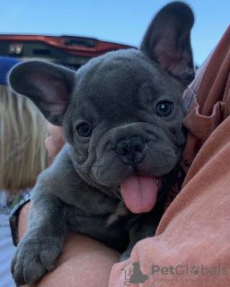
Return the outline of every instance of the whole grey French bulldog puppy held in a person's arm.
{"type": "Polygon", "coordinates": [[[96,57],[77,72],[33,60],[9,74],[66,144],[38,178],[28,230],[12,261],[15,283],[53,270],[66,228],[124,252],[155,235],[185,143],[182,91],[194,78],[187,4],[167,4],[139,50],[96,57]]]}

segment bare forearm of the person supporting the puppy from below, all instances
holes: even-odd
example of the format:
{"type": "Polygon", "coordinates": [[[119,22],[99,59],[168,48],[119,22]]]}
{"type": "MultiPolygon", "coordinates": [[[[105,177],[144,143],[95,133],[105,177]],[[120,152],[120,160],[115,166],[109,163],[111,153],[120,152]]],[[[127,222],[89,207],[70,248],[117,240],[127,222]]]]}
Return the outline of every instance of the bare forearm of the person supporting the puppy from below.
{"type": "MultiPolygon", "coordinates": [[[[30,203],[19,215],[18,233],[22,239],[26,229],[30,203]]],[[[63,252],[57,259],[56,269],[46,274],[39,287],[107,287],[111,267],[119,260],[119,253],[102,243],[80,234],[67,231],[63,252]]]]}

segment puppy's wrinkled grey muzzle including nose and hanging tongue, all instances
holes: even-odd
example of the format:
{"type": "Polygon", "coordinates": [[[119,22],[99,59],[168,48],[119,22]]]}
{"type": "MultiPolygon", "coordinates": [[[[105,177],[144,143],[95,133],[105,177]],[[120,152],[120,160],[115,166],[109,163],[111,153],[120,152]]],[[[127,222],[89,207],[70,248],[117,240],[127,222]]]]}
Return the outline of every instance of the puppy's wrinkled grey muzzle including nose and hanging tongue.
{"type": "Polygon", "coordinates": [[[102,138],[92,172],[100,184],[120,187],[131,212],[146,213],[155,206],[160,178],[173,170],[181,148],[159,128],[136,126],[134,132],[132,127],[102,138]]]}

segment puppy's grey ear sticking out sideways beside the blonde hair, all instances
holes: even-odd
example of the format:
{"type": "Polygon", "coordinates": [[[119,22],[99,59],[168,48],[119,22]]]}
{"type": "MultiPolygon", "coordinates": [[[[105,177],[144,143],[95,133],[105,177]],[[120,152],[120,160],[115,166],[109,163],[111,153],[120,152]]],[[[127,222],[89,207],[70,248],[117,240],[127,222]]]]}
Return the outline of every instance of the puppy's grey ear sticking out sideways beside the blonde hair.
{"type": "Polygon", "coordinates": [[[54,125],[61,126],[75,72],[39,60],[15,65],[8,75],[13,91],[30,98],[54,125]]]}

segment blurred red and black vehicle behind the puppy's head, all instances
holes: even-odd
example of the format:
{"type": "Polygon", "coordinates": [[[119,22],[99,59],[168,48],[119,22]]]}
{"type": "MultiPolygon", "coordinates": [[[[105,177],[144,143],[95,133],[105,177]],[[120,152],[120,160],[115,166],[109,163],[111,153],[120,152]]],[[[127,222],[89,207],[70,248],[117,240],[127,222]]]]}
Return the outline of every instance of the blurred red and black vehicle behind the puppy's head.
{"type": "Polygon", "coordinates": [[[84,65],[92,57],[119,48],[133,47],[74,36],[0,35],[0,56],[22,60],[39,57],[75,68],[84,65]]]}

